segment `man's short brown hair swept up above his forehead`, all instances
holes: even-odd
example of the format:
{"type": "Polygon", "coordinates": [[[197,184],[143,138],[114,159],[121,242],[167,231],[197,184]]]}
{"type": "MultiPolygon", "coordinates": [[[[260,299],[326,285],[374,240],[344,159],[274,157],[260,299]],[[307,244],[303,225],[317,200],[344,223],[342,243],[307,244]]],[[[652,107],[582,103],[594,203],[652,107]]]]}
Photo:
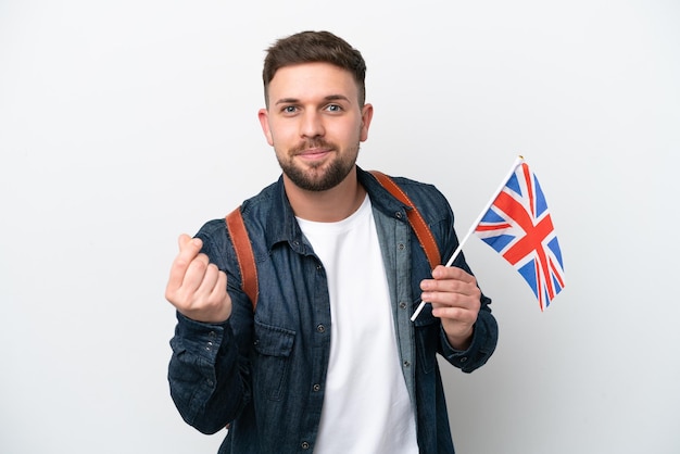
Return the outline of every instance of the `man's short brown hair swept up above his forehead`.
{"type": "Polygon", "coordinates": [[[358,103],[366,101],[366,62],[358,50],[330,31],[301,31],[277,40],[267,49],[262,79],[264,99],[269,106],[269,83],[276,72],[300,63],[324,62],[349,71],[358,86],[358,103]]]}

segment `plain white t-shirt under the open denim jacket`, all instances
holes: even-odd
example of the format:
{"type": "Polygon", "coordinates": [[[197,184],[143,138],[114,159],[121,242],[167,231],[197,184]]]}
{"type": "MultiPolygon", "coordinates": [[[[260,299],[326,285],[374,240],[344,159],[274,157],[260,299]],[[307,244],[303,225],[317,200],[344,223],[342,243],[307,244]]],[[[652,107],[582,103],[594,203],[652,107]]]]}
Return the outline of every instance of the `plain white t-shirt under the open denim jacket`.
{"type": "Polygon", "coordinates": [[[298,220],[330,293],[330,358],[314,453],[417,453],[370,200],[338,223],[298,220]]]}

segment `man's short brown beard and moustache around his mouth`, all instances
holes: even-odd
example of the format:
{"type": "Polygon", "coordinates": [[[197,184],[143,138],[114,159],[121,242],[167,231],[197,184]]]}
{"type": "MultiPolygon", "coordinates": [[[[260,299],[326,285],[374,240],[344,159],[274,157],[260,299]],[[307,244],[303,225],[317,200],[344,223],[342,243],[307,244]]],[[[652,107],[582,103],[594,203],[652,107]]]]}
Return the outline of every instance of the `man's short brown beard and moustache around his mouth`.
{"type": "Polygon", "coordinates": [[[358,156],[360,144],[356,143],[344,154],[338,152],[338,148],[326,141],[314,141],[300,146],[289,153],[276,153],[279,166],[284,174],[299,188],[307,191],[326,191],[338,186],[352,172],[358,156]],[[311,164],[303,168],[294,163],[294,156],[308,148],[325,148],[332,150],[335,157],[329,162],[311,164]],[[287,157],[287,159],[285,159],[287,157]]]}

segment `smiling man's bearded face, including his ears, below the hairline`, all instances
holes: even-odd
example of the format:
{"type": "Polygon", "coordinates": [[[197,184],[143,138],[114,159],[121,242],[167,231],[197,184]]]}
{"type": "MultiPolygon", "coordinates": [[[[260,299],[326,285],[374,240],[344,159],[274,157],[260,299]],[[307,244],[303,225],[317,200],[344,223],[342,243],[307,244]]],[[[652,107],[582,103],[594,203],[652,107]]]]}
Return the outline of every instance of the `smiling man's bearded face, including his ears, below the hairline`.
{"type": "Polygon", "coordinates": [[[310,191],[340,184],[354,168],[373,116],[370,104],[358,104],[352,74],[328,63],[285,66],[268,97],[259,117],[285,178],[310,191]]]}

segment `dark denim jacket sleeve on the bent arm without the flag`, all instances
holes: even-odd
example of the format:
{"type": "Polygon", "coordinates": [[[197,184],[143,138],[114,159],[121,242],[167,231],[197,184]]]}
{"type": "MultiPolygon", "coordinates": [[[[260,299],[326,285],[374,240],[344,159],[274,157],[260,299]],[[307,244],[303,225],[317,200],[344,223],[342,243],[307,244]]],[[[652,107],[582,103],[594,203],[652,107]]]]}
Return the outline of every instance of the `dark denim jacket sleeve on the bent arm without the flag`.
{"type": "MultiPolygon", "coordinates": [[[[240,291],[240,276],[228,270],[222,231],[206,224],[197,237],[212,263],[227,272],[231,298],[230,318],[224,324],[205,324],[177,313],[171,340],[168,366],[171,395],[184,420],[203,433],[215,433],[231,423],[250,402],[248,360],[252,306],[240,291]],[[217,232],[217,235],[212,235],[217,232]]],[[[217,227],[219,223],[216,223],[217,227]]],[[[224,222],[222,222],[224,229],[224,222]]]]}

